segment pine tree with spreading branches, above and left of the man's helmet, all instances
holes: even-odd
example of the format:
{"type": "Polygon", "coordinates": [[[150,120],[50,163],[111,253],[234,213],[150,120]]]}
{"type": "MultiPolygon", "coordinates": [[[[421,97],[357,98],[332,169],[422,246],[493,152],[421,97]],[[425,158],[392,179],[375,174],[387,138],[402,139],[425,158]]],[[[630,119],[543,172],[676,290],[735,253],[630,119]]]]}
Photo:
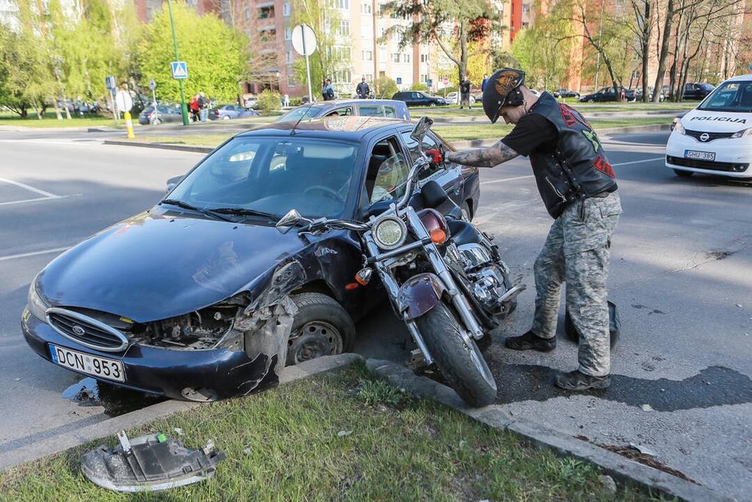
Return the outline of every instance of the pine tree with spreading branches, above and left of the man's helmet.
{"type": "Polygon", "coordinates": [[[382,40],[394,35],[400,47],[435,41],[456,65],[458,76],[467,76],[468,59],[484,47],[471,51],[473,41],[487,39],[499,14],[487,0],[392,0],[384,11],[408,23],[397,23],[384,32],[382,40]]]}

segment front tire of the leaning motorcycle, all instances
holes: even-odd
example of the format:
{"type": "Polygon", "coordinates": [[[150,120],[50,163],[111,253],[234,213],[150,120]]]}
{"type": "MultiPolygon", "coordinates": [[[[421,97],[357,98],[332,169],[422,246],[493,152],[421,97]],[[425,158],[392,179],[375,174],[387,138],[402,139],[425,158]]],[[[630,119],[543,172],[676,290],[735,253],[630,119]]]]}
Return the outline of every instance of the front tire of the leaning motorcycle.
{"type": "Polygon", "coordinates": [[[415,319],[415,324],[441,375],[465,403],[480,408],[496,400],[496,381],[481,350],[472,340],[470,347],[465,345],[461,328],[444,302],[415,319]]]}

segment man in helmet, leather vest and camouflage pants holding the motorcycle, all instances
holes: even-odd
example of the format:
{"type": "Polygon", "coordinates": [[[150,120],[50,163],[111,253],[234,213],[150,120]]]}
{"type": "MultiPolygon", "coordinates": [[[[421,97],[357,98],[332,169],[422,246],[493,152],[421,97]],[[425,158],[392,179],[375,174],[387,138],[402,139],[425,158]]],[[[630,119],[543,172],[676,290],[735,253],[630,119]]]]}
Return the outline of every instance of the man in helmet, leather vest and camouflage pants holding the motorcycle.
{"type": "Polygon", "coordinates": [[[578,370],[556,385],[572,391],[611,385],[606,275],[611,236],[621,214],[614,170],[582,115],[549,93],[535,96],[523,71],[504,68],[488,80],[483,108],[492,123],[516,126],[489,148],[453,152],[447,160],[493,167],[528,156],[538,192],[555,218],[535,260],[535,316],[531,329],[506,339],[514,350],[552,351],[562,282],[566,306],[581,334],[578,370]]]}

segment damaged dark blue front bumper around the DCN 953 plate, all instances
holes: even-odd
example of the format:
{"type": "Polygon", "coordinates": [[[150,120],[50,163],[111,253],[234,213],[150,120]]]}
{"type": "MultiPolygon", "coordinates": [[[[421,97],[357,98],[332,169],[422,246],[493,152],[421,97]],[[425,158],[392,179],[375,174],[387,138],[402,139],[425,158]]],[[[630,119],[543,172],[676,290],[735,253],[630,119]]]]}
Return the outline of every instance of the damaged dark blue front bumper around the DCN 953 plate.
{"type": "MultiPolygon", "coordinates": [[[[80,374],[149,394],[179,400],[207,400],[196,397],[206,395],[210,397],[209,400],[214,400],[241,396],[253,389],[277,383],[274,370],[267,370],[274,368],[274,361],[269,364],[264,354],[251,360],[245,351],[232,351],[229,348],[174,350],[148,345],[131,345],[123,354],[96,351],[65,338],[27,309],[24,309],[21,318],[21,329],[26,343],[50,362],[50,344],[122,361],[126,374],[124,383],[80,374]],[[191,391],[184,393],[184,389],[191,391]]],[[[69,370],[67,367],[65,369],[69,370]]]]}

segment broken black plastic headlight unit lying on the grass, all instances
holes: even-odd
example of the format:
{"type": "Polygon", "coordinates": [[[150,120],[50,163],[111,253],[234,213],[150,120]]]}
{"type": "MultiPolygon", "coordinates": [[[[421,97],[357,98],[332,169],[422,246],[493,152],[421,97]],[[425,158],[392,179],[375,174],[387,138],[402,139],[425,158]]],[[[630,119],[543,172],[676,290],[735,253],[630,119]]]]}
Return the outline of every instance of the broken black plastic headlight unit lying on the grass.
{"type": "Polygon", "coordinates": [[[114,491],[156,491],[190,485],[214,476],[225,454],[209,443],[203,449],[186,449],[164,434],[147,434],[129,440],[117,434],[114,449],[100,445],[83,455],[81,470],[95,485],[114,491]]]}

